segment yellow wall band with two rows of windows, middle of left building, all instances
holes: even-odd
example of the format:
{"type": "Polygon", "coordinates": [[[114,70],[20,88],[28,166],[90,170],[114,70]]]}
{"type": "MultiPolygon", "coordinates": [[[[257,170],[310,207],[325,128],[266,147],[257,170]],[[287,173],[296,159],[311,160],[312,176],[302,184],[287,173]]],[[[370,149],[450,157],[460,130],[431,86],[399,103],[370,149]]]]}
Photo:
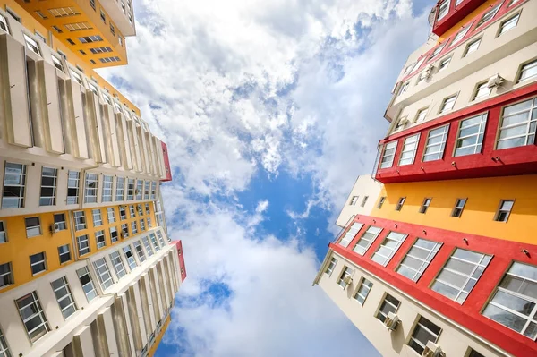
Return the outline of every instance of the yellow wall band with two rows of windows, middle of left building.
{"type": "MultiPolygon", "coordinates": [[[[132,230],[131,230],[131,222],[133,220],[135,220],[138,225],[138,234],[135,234],[134,237],[142,233],[140,229],[141,219],[144,220],[145,226],[146,226],[146,230],[144,232],[147,232],[149,230],[149,225],[147,222],[148,217],[151,218],[152,227],[156,227],[157,220],[155,219],[155,211],[153,209],[153,204],[151,203],[152,201],[147,201],[147,202],[149,202],[149,215],[146,213],[146,210],[145,210],[145,203],[146,203],[145,201],[141,203],[142,213],[143,213],[142,216],[138,215],[138,210],[136,209],[136,206],[138,204],[134,204],[135,213],[136,213],[134,218],[130,217],[130,211],[129,211],[130,205],[126,205],[127,219],[123,221],[119,219],[119,206],[113,206],[114,212],[115,212],[115,223],[112,223],[112,224],[108,223],[107,208],[106,207],[98,208],[101,210],[101,217],[102,217],[102,222],[103,222],[103,225],[100,225],[98,227],[93,226],[93,217],[91,215],[92,208],[82,209],[85,213],[87,228],[81,231],[76,231],[74,235],[79,236],[82,234],[88,234],[88,238],[90,242],[90,253],[82,256],[81,259],[86,259],[90,257],[91,254],[98,251],[97,241],[95,239],[95,232],[97,231],[100,231],[100,230],[105,231],[107,245],[106,247],[101,248],[102,250],[113,245],[112,242],[110,241],[110,229],[109,228],[111,226],[115,226],[117,228],[118,241],[115,242],[115,244],[125,241],[125,240],[122,240],[120,236],[121,225],[124,223],[127,223],[129,226],[129,237],[127,238],[127,240],[130,240],[133,238],[132,230]]],[[[74,222],[71,221],[71,224],[69,223],[69,220],[72,220],[72,212],[73,211],[55,212],[55,213],[65,214],[67,230],[58,232],[54,235],[51,234],[49,231],[49,226],[54,223],[54,213],[42,213],[42,214],[37,214],[37,215],[14,216],[14,217],[2,218],[2,221],[4,221],[4,225],[5,225],[4,229],[6,229],[6,232],[7,232],[8,242],[0,244],[0,264],[4,264],[7,262],[12,263],[14,284],[4,287],[3,289],[0,290],[0,292],[4,292],[6,290],[13,289],[13,287],[15,286],[28,283],[34,277],[42,276],[43,274],[47,274],[58,268],[62,268],[64,265],[68,265],[72,263],[72,261],[77,259],[78,247],[76,246],[76,240],[74,241],[74,247],[72,246],[71,227],[72,227],[72,230],[74,230],[74,222]],[[36,237],[32,237],[32,238],[26,238],[26,226],[25,226],[25,221],[24,221],[25,217],[39,217],[40,223],[41,223],[41,230],[43,234],[36,236],[36,237]],[[58,247],[64,244],[70,244],[72,260],[60,265],[58,247]],[[47,271],[39,273],[36,276],[32,276],[31,269],[30,269],[30,255],[40,253],[41,251],[45,251],[45,254],[46,254],[47,271]]]]}

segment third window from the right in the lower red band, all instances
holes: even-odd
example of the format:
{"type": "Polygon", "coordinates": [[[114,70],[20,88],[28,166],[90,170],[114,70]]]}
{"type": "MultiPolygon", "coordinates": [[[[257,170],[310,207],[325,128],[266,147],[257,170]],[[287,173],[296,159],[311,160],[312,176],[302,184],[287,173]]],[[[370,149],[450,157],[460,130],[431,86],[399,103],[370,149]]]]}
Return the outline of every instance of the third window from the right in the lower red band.
{"type": "Polygon", "coordinates": [[[397,268],[397,273],[418,281],[442,244],[418,238],[397,268]]]}

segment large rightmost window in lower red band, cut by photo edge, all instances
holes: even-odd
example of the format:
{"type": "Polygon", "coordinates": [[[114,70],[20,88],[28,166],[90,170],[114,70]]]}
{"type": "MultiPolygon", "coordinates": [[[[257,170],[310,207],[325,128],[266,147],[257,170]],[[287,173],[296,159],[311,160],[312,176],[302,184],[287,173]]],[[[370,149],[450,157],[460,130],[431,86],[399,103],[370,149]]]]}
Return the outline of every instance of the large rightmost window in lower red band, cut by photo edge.
{"type": "Polygon", "coordinates": [[[515,261],[482,313],[487,318],[535,340],[536,289],[537,268],[515,261]]]}

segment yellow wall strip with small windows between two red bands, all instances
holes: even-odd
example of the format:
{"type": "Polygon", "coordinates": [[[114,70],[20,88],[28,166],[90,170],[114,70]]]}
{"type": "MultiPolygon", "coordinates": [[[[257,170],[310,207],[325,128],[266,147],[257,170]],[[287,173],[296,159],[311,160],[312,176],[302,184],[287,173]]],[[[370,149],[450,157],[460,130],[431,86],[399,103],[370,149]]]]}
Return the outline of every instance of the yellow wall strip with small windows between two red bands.
{"type": "Polygon", "coordinates": [[[387,196],[386,201],[380,209],[375,204],[371,216],[537,244],[533,229],[537,223],[536,185],[537,175],[389,183],[380,193],[387,196]],[[405,205],[396,211],[400,197],[406,197],[405,205]],[[419,209],[426,197],[432,198],[430,208],[421,214],[419,209]],[[468,200],[462,216],[451,217],[457,198],[468,200]],[[493,220],[500,200],[515,200],[507,223],[493,220]]]}

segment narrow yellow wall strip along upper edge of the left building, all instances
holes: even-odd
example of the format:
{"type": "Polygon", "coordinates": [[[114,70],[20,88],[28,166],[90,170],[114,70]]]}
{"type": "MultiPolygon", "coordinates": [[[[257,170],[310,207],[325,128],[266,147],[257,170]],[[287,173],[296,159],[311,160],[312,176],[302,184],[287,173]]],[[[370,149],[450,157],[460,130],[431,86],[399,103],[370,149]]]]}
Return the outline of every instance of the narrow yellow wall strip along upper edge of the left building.
{"type": "MultiPolygon", "coordinates": [[[[45,36],[45,38],[48,38],[48,30],[35,18],[33,18],[29,13],[27,13],[19,4],[17,4],[15,0],[0,0],[0,7],[2,7],[3,10],[6,9],[6,6],[10,7],[15,13],[21,16],[22,25],[24,25],[24,27],[28,29],[31,33],[34,33],[34,31],[37,30],[41,35],[45,36]]],[[[94,78],[101,88],[107,89],[112,96],[119,98],[121,103],[124,103],[130,109],[133,109],[136,115],[141,116],[140,109],[137,106],[134,106],[129,99],[125,98],[121,94],[121,92],[119,92],[110,83],[101,78],[101,76],[99,76],[98,73],[92,69],[90,64],[83,61],[71,50],[71,48],[65,46],[64,43],[59,40],[55,40],[54,43],[51,44],[48,42],[47,39],[47,45],[49,47],[52,47],[55,51],[62,51],[65,55],[67,55],[67,61],[70,64],[72,64],[73,66],[81,67],[81,69],[84,70],[84,74],[86,74],[86,76],[94,78]]]]}

